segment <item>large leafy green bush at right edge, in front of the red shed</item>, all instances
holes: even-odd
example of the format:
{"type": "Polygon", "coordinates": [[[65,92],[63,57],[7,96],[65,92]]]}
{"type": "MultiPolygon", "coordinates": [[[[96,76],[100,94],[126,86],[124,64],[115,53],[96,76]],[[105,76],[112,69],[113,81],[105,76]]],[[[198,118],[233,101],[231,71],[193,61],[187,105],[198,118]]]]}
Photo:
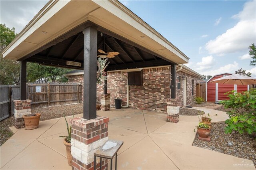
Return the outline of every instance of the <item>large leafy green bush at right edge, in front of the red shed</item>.
{"type": "Polygon", "coordinates": [[[222,101],[221,104],[227,109],[229,119],[225,121],[227,124],[225,133],[231,133],[233,130],[240,134],[247,132],[252,134],[256,132],[256,89],[250,89],[242,93],[230,91],[228,93],[229,100],[222,101]]]}

